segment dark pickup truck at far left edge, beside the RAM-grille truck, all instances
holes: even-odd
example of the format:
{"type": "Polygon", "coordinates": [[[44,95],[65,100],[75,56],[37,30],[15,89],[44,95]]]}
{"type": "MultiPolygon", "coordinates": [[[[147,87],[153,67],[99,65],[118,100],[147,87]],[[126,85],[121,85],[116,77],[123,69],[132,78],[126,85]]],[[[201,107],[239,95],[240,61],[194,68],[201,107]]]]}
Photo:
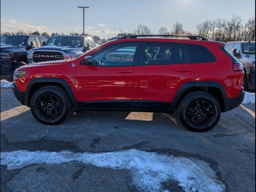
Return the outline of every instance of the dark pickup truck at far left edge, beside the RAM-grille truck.
{"type": "Polygon", "coordinates": [[[13,72],[27,64],[27,52],[32,48],[40,48],[46,42],[44,36],[36,35],[4,35],[1,36],[1,74],[13,72]]]}

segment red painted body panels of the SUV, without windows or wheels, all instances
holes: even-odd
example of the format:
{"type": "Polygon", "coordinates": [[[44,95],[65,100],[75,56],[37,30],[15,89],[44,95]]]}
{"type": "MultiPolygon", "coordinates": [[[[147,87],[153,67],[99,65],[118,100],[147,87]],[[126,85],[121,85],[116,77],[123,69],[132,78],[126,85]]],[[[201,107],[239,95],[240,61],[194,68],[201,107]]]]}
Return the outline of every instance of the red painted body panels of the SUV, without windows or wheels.
{"type": "Polygon", "coordinates": [[[228,98],[237,97],[243,89],[244,71],[232,70],[232,60],[220,47],[224,43],[177,38],[137,38],[108,42],[74,60],[30,64],[18,68],[27,70],[14,82],[21,92],[28,82],[38,77],[58,77],[70,85],[76,100],[154,100],[172,102],[178,88],[193,81],[219,82],[228,98]],[[205,46],[216,57],[215,62],[148,66],[89,66],[81,65],[85,56],[118,42],[170,42],[205,46]],[[76,66],[72,67],[71,64],[76,66]],[[126,73],[127,71],[127,73],[126,73]]]}

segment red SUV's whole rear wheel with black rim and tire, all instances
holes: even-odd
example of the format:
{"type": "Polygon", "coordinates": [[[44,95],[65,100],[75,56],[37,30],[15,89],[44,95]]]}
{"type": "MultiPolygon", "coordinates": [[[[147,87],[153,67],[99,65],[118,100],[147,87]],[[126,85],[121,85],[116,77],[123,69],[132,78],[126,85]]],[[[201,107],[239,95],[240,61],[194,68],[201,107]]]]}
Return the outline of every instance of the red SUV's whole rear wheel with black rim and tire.
{"type": "Polygon", "coordinates": [[[196,91],[184,96],[178,106],[178,118],[192,132],[206,132],[220,120],[221,108],[216,98],[196,91]]]}

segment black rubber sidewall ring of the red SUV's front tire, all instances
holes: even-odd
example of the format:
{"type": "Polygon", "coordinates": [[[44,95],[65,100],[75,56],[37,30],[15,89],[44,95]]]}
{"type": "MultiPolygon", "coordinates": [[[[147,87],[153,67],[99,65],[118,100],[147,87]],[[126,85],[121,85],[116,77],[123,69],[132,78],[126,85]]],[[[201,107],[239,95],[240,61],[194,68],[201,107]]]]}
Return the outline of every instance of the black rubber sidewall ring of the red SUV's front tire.
{"type": "Polygon", "coordinates": [[[43,124],[58,124],[59,122],[62,122],[66,118],[66,116],[68,116],[68,113],[69,113],[68,107],[69,106],[68,106],[68,103],[66,102],[65,96],[63,95],[62,92],[58,90],[52,90],[52,89],[38,90],[33,94],[30,100],[30,110],[33,116],[36,118],[36,120],[38,120],[43,124]],[[36,104],[38,102],[38,99],[44,94],[52,94],[58,97],[63,106],[61,114],[55,119],[47,120],[46,118],[42,117],[37,111],[36,104]]]}

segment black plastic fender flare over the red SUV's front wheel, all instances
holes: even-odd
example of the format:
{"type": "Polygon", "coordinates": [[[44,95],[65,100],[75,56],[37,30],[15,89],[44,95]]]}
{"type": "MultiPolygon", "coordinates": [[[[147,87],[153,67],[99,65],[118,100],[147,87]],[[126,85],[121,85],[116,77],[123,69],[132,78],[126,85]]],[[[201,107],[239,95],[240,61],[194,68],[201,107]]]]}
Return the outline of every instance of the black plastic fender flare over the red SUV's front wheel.
{"type": "Polygon", "coordinates": [[[30,92],[32,85],[35,83],[45,83],[45,82],[62,84],[62,86],[64,86],[66,92],[68,93],[68,96],[69,96],[70,101],[72,102],[72,105],[74,106],[74,108],[79,108],[78,102],[76,101],[76,97],[74,95],[74,92],[72,91],[68,82],[62,78],[56,78],[56,77],[40,77],[40,78],[34,78],[34,79],[30,80],[30,82],[27,85],[25,96],[24,96],[25,97],[24,102],[25,102],[26,106],[29,107],[28,98],[29,98],[29,92],[30,92]]]}

